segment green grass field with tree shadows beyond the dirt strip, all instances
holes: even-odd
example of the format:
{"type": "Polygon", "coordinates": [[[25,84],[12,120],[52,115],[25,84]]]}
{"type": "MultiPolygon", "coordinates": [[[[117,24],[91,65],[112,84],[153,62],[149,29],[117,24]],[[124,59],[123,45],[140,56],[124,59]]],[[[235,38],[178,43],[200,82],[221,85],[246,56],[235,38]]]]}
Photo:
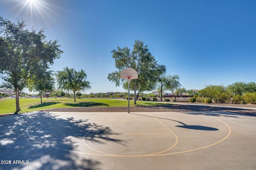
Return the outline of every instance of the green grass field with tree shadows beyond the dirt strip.
{"type": "MultiPolygon", "coordinates": [[[[20,98],[19,113],[38,111],[42,109],[51,109],[58,107],[122,107],[128,106],[128,100],[113,99],[68,99],[68,98],[43,98],[43,104],[40,98],[20,98]]],[[[157,102],[137,101],[136,106],[158,105],[157,102]]],[[[130,100],[130,106],[135,106],[133,100],[130,100]]],[[[16,111],[15,98],[0,99],[0,114],[14,113],[16,111]]]]}

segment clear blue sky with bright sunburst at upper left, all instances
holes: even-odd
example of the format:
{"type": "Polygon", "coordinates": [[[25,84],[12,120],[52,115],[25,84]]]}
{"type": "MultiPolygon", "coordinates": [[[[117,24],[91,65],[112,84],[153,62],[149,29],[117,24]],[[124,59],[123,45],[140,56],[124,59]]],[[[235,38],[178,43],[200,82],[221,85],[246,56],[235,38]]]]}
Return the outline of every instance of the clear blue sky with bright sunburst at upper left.
{"type": "Polygon", "coordinates": [[[124,91],[107,79],[111,51],[138,39],[187,90],[256,82],[255,9],[256,0],[0,0],[0,16],[59,41],[52,70],[85,70],[86,94],[124,91]]]}

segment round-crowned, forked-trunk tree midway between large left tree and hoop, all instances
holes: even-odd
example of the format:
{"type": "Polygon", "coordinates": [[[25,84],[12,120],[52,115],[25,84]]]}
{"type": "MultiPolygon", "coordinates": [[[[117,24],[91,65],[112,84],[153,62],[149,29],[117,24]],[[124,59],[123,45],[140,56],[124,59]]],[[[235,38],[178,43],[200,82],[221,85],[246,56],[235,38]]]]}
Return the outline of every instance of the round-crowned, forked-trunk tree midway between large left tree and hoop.
{"type": "Polygon", "coordinates": [[[74,68],[65,67],[56,74],[58,87],[62,90],[72,90],[74,102],[76,102],[76,92],[90,89],[90,82],[86,81],[87,74],[84,70],[76,71],[74,68]]]}

